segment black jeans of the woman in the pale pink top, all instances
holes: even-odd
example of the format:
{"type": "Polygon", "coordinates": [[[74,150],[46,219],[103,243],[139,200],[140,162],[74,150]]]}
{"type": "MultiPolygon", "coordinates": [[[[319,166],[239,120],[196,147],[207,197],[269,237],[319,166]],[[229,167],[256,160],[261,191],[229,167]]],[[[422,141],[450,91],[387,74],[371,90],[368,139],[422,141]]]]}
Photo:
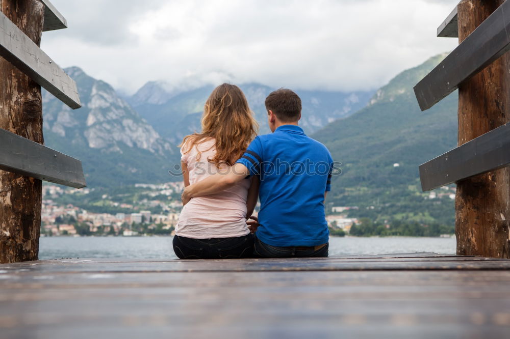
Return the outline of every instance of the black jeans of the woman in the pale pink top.
{"type": "Polygon", "coordinates": [[[191,239],[173,237],[179,259],[241,259],[252,257],[253,235],[235,238],[191,239]]]}

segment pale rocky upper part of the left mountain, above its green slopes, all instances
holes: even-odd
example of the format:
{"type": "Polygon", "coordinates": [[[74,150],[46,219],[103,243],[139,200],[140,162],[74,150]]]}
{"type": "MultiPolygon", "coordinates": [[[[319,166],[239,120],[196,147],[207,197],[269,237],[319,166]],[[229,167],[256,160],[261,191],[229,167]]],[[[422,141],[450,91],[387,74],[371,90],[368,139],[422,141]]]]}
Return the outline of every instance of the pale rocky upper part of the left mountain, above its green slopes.
{"type": "Polygon", "coordinates": [[[45,93],[45,130],[62,137],[83,138],[88,147],[109,152],[122,152],[121,146],[159,155],[172,152],[170,144],[140,118],[108,83],[88,76],[78,67],[65,71],[77,81],[83,106],[71,110],[45,93]]]}

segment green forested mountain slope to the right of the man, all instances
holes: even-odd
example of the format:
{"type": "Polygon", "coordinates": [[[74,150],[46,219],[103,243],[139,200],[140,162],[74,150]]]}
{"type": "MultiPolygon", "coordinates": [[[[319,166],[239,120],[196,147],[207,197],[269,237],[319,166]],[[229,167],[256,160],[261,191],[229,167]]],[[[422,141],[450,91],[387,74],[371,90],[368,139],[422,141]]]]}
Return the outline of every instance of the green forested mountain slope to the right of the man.
{"type": "Polygon", "coordinates": [[[356,216],[453,224],[453,201],[427,199],[418,166],[457,144],[457,95],[422,112],[413,87],[447,54],[403,71],[380,88],[369,104],[328,124],[312,137],[342,162],[328,202],[358,206],[356,216]]]}

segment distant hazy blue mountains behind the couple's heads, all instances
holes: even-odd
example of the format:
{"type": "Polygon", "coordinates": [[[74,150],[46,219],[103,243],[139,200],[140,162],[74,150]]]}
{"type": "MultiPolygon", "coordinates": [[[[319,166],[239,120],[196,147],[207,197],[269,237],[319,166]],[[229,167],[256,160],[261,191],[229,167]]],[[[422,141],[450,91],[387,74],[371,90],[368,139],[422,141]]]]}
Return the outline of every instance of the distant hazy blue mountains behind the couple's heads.
{"type": "MultiPolygon", "coordinates": [[[[258,83],[240,84],[239,87],[259,122],[259,133],[269,133],[264,100],[275,88],[258,83]]],[[[150,81],[126,100],[159,134],[173,143],[179,143],[185,135],[200,131],[203,105],[213,89],[213,86],[203,86],[175,92],[165,82],[150,81]]],[[[301,98],[305,112],[300,124],[307,133],[313,133],[336,119],[348,117],[363,108],[373,94],[371,91],[343,93],[303,90],[296,90],[296,93],[301,98]]]]}

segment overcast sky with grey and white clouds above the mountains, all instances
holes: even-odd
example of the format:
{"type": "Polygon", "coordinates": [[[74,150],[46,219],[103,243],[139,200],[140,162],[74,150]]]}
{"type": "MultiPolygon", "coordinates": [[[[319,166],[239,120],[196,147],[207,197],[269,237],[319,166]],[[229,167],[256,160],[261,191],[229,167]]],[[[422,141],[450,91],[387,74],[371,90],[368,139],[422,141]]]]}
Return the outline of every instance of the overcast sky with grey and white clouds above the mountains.
{"type": "Polygon", "coordinates": [[[133,93],[222,81],[369,90],[452,50],[438,25],[458,0],[52,0],[66,30],[43,34],[60,66],[133,93]]]}

